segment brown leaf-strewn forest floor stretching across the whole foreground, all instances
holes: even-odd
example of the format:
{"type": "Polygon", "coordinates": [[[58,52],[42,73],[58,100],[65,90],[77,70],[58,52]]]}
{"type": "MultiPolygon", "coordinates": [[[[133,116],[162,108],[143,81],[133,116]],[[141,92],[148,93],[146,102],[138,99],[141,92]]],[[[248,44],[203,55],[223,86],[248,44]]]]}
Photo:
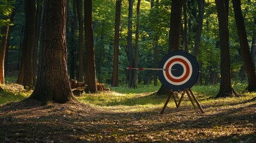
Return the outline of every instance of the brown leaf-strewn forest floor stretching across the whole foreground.
{"type": "Polygon", "coordinates": [[[256,101],[202,101],[205,113],[183,102],[170,100],[164,114],[163,104],[10,102],[0,105],[0,142],[256,142],[256,101]]]}

